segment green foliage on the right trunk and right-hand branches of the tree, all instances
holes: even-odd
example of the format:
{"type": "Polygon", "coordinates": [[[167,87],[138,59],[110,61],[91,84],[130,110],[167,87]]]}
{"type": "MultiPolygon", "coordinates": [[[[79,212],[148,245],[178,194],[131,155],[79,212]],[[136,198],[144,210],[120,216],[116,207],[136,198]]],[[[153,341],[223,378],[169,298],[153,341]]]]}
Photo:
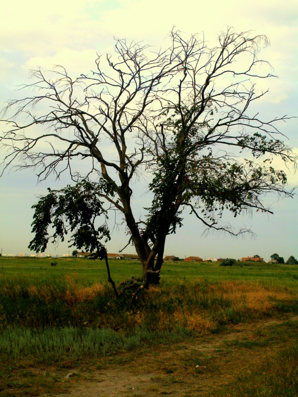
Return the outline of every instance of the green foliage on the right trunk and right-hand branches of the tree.
{"type": "MultiPolygon", "coordinates": [[[[183,219],[181,211],[177,211],[181,203],[189,205],[191,213],[196,213],[205,225],[217,228],[224,210],[231,211],[236,217],[243,209],[255,206],[260,183],[267,187],[286,184],[286,174],[271,166],[257,165],[246,159],[240,163],[217,157],[204,142],[205,130],[212,130],[211,126],[207,122],[193,125],[193,109],[183,107],[182,111],[190,125],[183,125],[178,109],[164,123],[173,134],[166,150],[156,158],[154,177],[149,185],[154,194],[149,208],[151,231],[160,227],[160,219],[171,232],[175,232],[177,226],[181,227],[183,219]],[[172,219],[170,224],[169,219],[172,219]]],[[[250,149],[253,154],[259,153],[257,157],[275,145],[282,145],[281,141],[268,141],[266,136],[257,133],[252,139],[255,145],[250,149]]],[[[249,141],[251,144],[251,139],[249,141]]],[[[267,211],[263,205],[258,210],[267,211]]]]}

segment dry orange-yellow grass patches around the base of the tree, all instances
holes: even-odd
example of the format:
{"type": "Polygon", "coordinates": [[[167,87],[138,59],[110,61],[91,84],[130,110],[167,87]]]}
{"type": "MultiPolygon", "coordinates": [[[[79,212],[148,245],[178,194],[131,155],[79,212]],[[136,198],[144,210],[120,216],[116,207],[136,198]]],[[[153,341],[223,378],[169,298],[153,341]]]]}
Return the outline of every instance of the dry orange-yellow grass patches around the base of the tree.
{"type": "MultiPolygon", "coordinates": [[[[77,282],[77,274],[72,272],[64,276],[64,283],[57,285],[31,285],[28,293],[31,297],[50,302],[52,299],[62,299],[68,307],[94,299],[96,296],[107,294],[107,286],[93,283],[82,286],[77,282]]],[[[15,291],[20,286],[15,285],[15,291]]],[[[144,291],[141,306],[118,313],[117,306],[110,311],[101,311],[98,314],[98,327],[103,324],[116,327],[113,316],[124,316],[125,328],[143,326],[150,317],[150,305],[155,304],[152,326],[158,331],[168,329],[172,325],[181,325],[189,330],[206,333],[215,330],[219,324],[237,323],[246,320],[259,319],[275,310],[277,302],[291,302],[297,300],[298,294],[287,286],[276,284],[262,284],[253,281],[222,280],[206,282],[196,279],[188,284],[164,285],[151,287],[144,291]],[[144,301],[145,300],[145,301],[144,301]],[[114,313],[114,315],[112,314],[114,313]]],[[[113,305],[112,302],[108,303],[113,305]]],[[[96,309],[95,309],[96,310],[96,309]]],[[[124,309],[125,310],[125,309],[124,309]]],[[[97,316],[96,316],[97,317],[97,316]]],[[[88,325],[88,323],[84,323],[88,325]]],[[[150,325],[149,325],[150,327],[150,325]]]]}

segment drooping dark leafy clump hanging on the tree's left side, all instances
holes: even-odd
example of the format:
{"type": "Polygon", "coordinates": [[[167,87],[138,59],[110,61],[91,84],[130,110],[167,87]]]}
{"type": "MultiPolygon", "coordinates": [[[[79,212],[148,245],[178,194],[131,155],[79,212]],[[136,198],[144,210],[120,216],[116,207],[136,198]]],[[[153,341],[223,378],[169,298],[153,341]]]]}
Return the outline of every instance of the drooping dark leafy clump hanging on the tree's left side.
{"type": "Polygon", "coordinates": [[[102,252],[105,252],[101,240],[110,240],[106,223],[107,211],[100,199],[100,195],[108,191],[106,182],[99,184],[84,181],[61,190],[48,191],[48,195],[41,197],[32,206],[34,238],[28,248],[44,252],[50,238],[53,243],[57,243],[59,240],[64,241],[70,233],[70,247],[96,252],[95,257],[101,257],[102,252]],[[99,217],[103,217],[104,222],[96,226],[99,217]],[[54,229],[53,236],[49,236],[50,226],[54,229]]]}

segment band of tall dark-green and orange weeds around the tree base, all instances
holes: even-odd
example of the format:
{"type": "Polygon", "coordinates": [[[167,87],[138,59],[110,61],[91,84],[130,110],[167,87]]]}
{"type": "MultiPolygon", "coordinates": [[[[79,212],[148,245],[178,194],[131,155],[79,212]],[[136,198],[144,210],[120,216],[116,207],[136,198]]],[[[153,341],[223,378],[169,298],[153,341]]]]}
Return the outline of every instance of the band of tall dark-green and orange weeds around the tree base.
{"type": "Polygon", "coordinates": [[[29,279],[0,279],[0,327],[31,329],[80,327],[164,331],[219,330],[229,323],[298,311],[297,293],[289,286],[270,288],[252,281],[206,278],[162,282],[143,290],[130,306],[129,290],[115,299],[108,285],[82,286],[76,274],[30,283],[29,279]]]}

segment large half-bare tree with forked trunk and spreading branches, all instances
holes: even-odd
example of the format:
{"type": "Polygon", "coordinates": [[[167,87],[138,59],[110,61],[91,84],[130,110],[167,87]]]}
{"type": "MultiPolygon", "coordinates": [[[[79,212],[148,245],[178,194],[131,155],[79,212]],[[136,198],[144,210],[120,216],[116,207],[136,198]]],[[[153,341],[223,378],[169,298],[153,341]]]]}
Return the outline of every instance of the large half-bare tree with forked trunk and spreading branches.
{"type": "Polygon", "coordinates": [[[62,66],[50,74],[32,70],[33,82],[23,87],[30,94],[8,102],[3,169],[20,161],[19,168],[38,169],[40,181],[66,172],[72,180],[33,206],[30,248],[44,251],[52,226],[54,241],[70,232],[70,243],[101,257],[100,239],[110,239],[107,216],[116,211],[148,286],[159,280],[166,237],[182,226],[184,210],[207,229],[238,235],[248,230],[222,222],[224,211],[272,213],[264,195],[293,195],[272,164],[278,157],[296,165],[280,139],[279,123],[288,117],[266,120],[250,111],[267,92],[257,92],[257,80],[272,77],[270,65],[258,59],[267,38],[228,29],[214,48],[176,31],[169,40],[166,50],[152,52],[117,39],[106,64],[99,56],[90,75],[75,79],[62,66]],[[140,175],[149,181],[151,204],[138,219],[133,200],[140,175]],[[84,222],[71,215],[70,195],[77,191],[91,211],[84,222]]]}

